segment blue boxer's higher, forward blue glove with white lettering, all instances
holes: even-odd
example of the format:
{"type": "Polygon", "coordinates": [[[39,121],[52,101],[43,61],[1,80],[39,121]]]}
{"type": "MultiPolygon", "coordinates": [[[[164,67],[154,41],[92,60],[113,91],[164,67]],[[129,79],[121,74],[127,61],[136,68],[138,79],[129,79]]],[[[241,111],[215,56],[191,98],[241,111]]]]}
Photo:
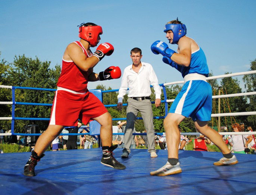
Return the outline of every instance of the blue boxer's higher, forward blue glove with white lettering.
{"type": "Polygon", "coordinates": [[[155,41],[151,45],[151,51],[154,54],[162,54],[163,56],[166,56],[168,58],[172,57],[172,54],[176,53],[172,49],[168,47],[168,45],[163,41],[155,41]]]}

